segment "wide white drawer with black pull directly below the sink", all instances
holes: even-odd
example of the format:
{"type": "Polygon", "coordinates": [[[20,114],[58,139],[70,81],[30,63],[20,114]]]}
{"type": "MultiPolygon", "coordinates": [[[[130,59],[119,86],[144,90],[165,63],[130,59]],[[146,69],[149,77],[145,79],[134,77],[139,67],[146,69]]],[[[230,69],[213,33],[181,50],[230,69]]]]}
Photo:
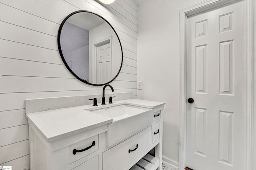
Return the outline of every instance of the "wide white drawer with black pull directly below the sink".
{"type": "Polygon", "coordinates": [[[150,144],[151,126],[104,152],[103,170],[122,170],[142,154],[150,144]]]}

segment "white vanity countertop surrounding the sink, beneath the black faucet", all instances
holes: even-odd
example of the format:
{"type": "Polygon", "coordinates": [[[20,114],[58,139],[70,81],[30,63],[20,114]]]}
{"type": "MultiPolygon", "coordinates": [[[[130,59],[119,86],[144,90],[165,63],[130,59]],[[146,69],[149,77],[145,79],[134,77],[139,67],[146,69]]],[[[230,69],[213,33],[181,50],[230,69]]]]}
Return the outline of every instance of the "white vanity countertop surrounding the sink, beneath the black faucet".
{"type": "Polygon", "coordinates": [[[53,142],[73,134],[78,134],[104,124],[111,123],[112,118],[101,116],[87,110],[117,106],[120,104],[131,104],[134,106],[154,109],[158,106],[164,105],[165,103],[139,99],[127,99],[114,101],[113,104],[106,105],[98,103],[98,106],[84,105],[48,110],[44,112],[28,113],[26,114],[26,117],[28,118],[29,123],[33,123],[36,126],[47,142],[53,142]]]}

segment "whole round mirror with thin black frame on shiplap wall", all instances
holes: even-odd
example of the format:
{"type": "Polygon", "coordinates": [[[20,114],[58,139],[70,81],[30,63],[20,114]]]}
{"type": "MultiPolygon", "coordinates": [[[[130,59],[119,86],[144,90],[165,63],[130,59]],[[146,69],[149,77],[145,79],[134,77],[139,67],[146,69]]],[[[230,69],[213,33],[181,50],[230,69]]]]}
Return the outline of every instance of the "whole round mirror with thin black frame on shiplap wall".
{"type": "Polygon", "coordinates": [[[122,67],[123,52],[116,31],[92,12],[76,11],[62,21],[58,49],[68,70],[86,84],[108,84],[122,67]]]}

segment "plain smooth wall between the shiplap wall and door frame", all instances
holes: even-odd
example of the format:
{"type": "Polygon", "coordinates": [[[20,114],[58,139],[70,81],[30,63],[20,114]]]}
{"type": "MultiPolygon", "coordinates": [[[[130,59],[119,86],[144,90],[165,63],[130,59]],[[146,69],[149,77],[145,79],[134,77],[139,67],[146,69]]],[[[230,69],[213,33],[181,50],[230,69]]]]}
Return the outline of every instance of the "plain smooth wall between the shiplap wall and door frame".
{"type": "Polygon", "coordinates": [[[138,6],[137,98],[166,102],[163,160],[179,159],[179,12],[203,0],[147,0],[138,6]]]}

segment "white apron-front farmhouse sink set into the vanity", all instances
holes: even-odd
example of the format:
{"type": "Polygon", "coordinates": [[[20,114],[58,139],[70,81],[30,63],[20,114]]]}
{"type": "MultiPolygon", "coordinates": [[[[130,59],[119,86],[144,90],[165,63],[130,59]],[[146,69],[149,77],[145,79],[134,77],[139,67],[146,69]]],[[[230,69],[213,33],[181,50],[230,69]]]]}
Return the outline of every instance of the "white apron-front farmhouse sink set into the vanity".
{"type": "Polygon", "coordinates": [[[113,119],[113,122],[108,124],[108,131],[106,132],[107,146],[112,146],[140,132],[140,130],[150,126],[153,122],[152,109],[130,104],[109,106],[88,111],[113,119]]]}

